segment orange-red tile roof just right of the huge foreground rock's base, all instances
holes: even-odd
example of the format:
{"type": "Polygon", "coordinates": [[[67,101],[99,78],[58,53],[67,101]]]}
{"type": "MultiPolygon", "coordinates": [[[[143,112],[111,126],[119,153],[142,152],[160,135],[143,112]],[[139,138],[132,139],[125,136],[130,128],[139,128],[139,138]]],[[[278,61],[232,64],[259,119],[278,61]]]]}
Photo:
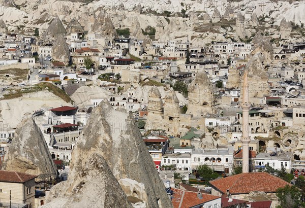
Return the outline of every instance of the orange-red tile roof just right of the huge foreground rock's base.
{"type": "Polygon", "coordinates": [[[185,191],[174,188],[172,188],[171,190],[174,192],[172,195],[173,198],[171,200],[174,208],[189,208],[220,198],[219,196],[214,196],[211,194],[202,194],[202,199],[200,199],[197,196],[197,192],[185,191]]]}

